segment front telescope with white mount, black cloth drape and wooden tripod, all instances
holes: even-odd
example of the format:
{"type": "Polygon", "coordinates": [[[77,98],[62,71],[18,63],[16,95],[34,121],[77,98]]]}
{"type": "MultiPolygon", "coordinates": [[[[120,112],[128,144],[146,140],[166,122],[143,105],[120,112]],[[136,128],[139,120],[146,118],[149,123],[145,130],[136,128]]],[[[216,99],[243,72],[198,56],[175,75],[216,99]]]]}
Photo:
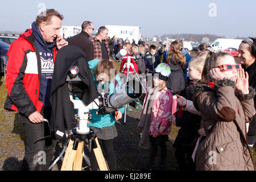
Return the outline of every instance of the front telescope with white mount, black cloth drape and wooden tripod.
{"type": "MultiPolygon", "coordinates": [[[[126,51],[122,51],[118,56],[120,55],[126,55],[126,51]]],[[[98,110],[96,114],[114,114],[119,108],[141,97],[142,85],[138,81],[130,80],[120,85],[113,94],[104,92],[108,82],[104,85],[104,90],[97,89],[84,51],[72,45],[64,46],[58,51],[53,72],[50,96],[53,112],[50,127],[57,139],[63,138],[64,134],[67,139],[63,151],[49,169],[66,149],[61,170],[69,170],[72,167],[81,169],[80,157],[85,158],[84,142],[88,139],[89,152],[93,148],[96,158],[98,156],[97,160],[100,161],[99,168],[106,170],[105,160],[101,160],[104,156],[97,136],[88,127],[88,121],[92,119],[90,111],[98,110]]],[[[98,88],[100,86],[98,85],[98,88]]]]}

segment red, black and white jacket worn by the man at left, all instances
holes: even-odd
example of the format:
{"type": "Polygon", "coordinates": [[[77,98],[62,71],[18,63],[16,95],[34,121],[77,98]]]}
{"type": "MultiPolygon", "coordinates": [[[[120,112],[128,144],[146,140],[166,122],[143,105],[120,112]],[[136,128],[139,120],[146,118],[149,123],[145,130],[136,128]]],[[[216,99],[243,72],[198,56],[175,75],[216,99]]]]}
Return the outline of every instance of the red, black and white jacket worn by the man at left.
{"type": "MultiPolygon", "coordinates": [[[[53,50],[55,61],[57,47],[53,50]]],[[[44,103],[39,101],[41,60],[32,29],[24,32],[10,46],[7,53],[6,88],[8,95],[4,108],[20,111],[28,117],[44,103]]]]}

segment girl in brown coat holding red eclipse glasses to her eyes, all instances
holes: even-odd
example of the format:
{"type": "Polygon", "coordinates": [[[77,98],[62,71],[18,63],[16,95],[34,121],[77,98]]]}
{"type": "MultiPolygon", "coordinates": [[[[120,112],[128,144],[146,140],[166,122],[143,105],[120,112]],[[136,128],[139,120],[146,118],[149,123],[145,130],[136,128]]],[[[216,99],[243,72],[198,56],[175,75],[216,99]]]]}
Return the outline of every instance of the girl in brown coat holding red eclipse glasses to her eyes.
{"type": "Polygon", "coordinates": [[[233,56],[218,52],[206,60],[201,85],[189,89],[206,133],[196,151],[196,170],[254,170],[246,122],[253,117],[255,91],[248,78],[233,56]]]}

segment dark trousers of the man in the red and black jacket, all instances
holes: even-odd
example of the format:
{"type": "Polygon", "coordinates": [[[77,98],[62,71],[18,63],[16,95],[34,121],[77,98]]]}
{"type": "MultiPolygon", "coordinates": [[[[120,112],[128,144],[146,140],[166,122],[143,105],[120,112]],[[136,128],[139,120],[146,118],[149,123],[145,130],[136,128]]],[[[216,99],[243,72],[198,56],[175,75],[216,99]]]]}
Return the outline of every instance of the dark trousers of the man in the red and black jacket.
{"type": "MultiPolygon", "coordinates": [[[[43,108],[40,114],[49,121],[51,108],[43,108]]],[[[20,114],[20,121],[22,121],[27,134],[26,152],[22,161],[21,170],[48,171],[58,140],[48,137],[35,143],[36,140],[50,135],[48,123],[32,123],[23,114],[20,114]]]]}

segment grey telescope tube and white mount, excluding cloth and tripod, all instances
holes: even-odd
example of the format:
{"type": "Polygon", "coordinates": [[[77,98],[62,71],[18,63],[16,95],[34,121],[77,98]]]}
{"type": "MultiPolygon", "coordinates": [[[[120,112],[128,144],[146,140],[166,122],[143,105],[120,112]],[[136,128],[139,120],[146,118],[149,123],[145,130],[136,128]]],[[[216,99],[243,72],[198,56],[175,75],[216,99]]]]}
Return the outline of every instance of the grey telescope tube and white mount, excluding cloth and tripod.
{"type": "Polygon", "coordinates": [[[135,99],[142,96],[142,85],[137,80],[130,80],[122,86],[119,86],[117,92],[113,94],[106,94],[102,90],[100,96],[96,98],[89,105],[85,105],[79,97],[73,94],[73,87],[81,84],[80,78],[77,76],[79,68],[73,66],[69,69],[67,82],[69,87],[69,97],[74,104],[75,118],[79,125],[76,127],[77,134],[88,134],[90,132],[87,126],[87,121],[91,119],[90,110],[96,110],[97,114],[112,114],[121,107],[133,102],[135,99]]]}

